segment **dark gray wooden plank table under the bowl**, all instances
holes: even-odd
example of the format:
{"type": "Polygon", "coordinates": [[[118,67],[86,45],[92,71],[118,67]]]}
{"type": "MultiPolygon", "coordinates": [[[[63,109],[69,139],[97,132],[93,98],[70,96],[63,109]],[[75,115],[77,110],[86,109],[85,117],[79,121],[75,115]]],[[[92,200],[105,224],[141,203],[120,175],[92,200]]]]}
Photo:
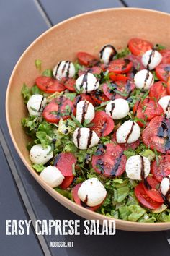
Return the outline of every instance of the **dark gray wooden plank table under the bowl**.
{"type": "MultiPolygon", "coordinates": [[[[115,236],[6,236],[6,219],[81,219],[53,200],[30,176],[19,159],[5,118],[5,95],[9,76],[25,48],[42,32],[68,17],[94,9],[143,7],[170,12],[170,1],[140,0],[0,0],[0,255],[149,255],[168,256],[167,232],[115,236]],[[50,247],[50,241],[73,241],[73,248],[50,247]]],[[[164,32],[168,33],[168,32],[164,32]]],[[[17,115],[17,113],[16,113],[17,115]]],[[[81,225],[82,226],[82,225],[81,225]]]]}

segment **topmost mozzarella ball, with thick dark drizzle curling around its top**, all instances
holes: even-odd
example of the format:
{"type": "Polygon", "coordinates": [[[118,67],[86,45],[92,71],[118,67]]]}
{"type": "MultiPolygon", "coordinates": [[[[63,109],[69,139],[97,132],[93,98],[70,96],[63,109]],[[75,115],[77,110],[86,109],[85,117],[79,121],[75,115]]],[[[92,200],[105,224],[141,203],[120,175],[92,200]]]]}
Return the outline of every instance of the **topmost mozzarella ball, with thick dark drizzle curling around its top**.
{"type": "Polygon", "coordinates": [[[99,58],[104,64],[109,64],[109,61],[112,61],[115,54],[117,54],[115,48],[107,44],[106,46],[103,46],[99,52],[99,58]]]}

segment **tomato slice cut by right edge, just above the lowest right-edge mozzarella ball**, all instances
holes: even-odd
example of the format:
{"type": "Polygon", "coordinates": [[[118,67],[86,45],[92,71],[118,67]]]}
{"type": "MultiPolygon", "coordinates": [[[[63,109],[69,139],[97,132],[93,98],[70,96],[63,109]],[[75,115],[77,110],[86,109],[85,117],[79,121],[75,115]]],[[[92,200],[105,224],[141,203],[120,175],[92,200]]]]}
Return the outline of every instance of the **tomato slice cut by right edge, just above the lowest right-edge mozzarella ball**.
{"type": "Polygon", "coordinates": [[[161,180],[170,174],[170,155],[161,155],[161,158],[156,161],[153,161],[151,165],[151,174],[153,177],[161,182],[161,180]]]}

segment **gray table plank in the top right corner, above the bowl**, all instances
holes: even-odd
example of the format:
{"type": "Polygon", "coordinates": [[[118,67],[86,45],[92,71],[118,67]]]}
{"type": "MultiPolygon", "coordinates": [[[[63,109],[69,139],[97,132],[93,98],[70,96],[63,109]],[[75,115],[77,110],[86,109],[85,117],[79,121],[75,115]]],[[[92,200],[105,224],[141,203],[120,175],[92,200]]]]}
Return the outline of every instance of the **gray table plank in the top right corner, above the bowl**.
{"type": "Polygon", "coordinates": [[[170,12],[170,1],[169,0],[124,0],[129,7],[140,7],[147,9],[154,9],[161,12],[170,12]]]}

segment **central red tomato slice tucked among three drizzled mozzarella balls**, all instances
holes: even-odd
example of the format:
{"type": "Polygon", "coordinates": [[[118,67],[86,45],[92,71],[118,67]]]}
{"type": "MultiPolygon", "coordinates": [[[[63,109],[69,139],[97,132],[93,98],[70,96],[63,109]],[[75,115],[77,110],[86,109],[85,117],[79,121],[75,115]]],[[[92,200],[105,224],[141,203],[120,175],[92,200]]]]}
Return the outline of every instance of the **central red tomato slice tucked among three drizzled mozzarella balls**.
{"type": "Polygon", "coordinates": [[[104,111],[97,111],[91,123],[94,125],[90,127],[90,129],[96,132],[99,137],[109,135],[114,128],[114,121],[112,117],[104,111]]]}

